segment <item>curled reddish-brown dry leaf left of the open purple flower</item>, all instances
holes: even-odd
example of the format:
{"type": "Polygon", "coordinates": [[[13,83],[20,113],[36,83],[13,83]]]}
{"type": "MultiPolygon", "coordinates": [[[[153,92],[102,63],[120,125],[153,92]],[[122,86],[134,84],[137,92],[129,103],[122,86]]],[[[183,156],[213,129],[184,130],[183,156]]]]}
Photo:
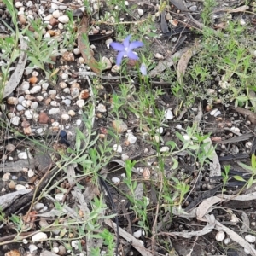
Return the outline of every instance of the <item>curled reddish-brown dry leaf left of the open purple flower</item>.
{"type": "Polygon", "coordinates": [[[84,58],[85,63],[90,67],[90,69],[95,73],[101,73],[96,59],[91,54],[89,44],[87,45],[84,44],[83,34],[87,34],[87,30],[88,30],[88,16],[84,14],[84,17],[80,22],[79,31],[78,31],[79,50],[84,58]]]}

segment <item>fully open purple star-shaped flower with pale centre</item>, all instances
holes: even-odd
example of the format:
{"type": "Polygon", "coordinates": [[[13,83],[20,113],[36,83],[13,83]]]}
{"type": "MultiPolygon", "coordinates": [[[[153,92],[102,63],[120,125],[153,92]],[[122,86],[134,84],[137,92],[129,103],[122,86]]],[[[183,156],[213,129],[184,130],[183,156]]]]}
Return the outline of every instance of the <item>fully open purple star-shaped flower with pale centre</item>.
{"type": "Polygon", "coordinates": [[[132,49],[137,49],[138,47],[142,47],[144,44],[140,41],[134,41],[130,43],[131,35],[125,38],[123,44],[113,42],[110,46],[114,49],[119,51],[119,54],[116,58],[116,65],[120,65],[123,57],[127,56],[131,60],[138,60],[137,54],[132,51],[132,49]]]}

